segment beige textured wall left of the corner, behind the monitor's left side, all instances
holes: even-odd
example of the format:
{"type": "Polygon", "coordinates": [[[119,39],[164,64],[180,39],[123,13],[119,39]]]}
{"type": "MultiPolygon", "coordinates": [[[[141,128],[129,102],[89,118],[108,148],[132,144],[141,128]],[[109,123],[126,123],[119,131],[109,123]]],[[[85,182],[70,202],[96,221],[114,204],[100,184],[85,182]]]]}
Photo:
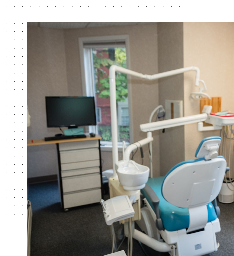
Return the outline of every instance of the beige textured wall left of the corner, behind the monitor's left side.
{"type": "MultiPolygon", "coordinates": [[[[68,95],[63,30],[27,27],[27,139],[60,133],[46,127],[45,96],[68,95]]],[[[27,177],[57,173],[55,144],[27,147],[27,177]]]]}

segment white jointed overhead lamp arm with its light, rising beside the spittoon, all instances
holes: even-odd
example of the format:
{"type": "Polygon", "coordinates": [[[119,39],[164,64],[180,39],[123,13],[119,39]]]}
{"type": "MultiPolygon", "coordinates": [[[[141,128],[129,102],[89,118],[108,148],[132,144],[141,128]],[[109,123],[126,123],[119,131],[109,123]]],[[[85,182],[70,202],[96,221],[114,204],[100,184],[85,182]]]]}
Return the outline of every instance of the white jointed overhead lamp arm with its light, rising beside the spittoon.
{"type": "MultiPolygon", "coordinates": [[[[135,77],[154,80],[164,77],[169,77],[177,74],[181,74],[188,71],[196,71],[195,85],[199,86],[199,82],[203,83],[203,80],[200,80],[200,70],[197,67],[191,66],[187,68],[180,68],[176,70],[171,70],[167,72],[158,73],[155,75],[144,75],[129,69],[125,69],[116,65],[112,65],[109,70],[109,79],[110,79],[110,103],[111,103],[111,132],[112,132],[112,155],[113,155],[113,177],[117,177],[115,170],[115,165],[118,164],[118,124],[117,124],[117,109],[116,109],[116,85],[115,85],[115,72],[121,72],[124,74],[132,75],[135,77]]],[[[200,92],[193,93],[195,95],[204,95],[206,91],[205,84],[203,83],[204,89],[200,89],[200,92]]],[[[192,95],[191,95],[192,96],[192,95]]],[[[209,97],[209,95],[206,95],[209,97]]],[[[194,98],[194,97],[193,97],[194,98]]]]}

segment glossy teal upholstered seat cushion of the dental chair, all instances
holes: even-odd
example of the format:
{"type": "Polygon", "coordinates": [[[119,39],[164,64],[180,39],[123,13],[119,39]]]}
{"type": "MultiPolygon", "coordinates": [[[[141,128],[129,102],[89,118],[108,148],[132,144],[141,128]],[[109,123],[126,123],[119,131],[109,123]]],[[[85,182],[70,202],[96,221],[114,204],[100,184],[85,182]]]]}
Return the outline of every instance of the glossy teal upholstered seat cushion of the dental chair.
{"type": "MultiPolygon", "coordinates": [[[[189,210],[188,208],[176,207],[164,199],[161,189],[163,180],[164,177],[155,177],[148,179],[147,182],[147,184],[154,190],[160,200],[159,213],[163,226],[168,231],[187,229],[189,227],[189,210]]],[[[143,196],[145,196],[151,207],[154,209],[153,204],[144,189],[141,190],[141,193],[143,196]]],[[[208,222],[214,221],[217,218],[217,215],[212,203],[207,204],[207,211],[208,222]]]]}

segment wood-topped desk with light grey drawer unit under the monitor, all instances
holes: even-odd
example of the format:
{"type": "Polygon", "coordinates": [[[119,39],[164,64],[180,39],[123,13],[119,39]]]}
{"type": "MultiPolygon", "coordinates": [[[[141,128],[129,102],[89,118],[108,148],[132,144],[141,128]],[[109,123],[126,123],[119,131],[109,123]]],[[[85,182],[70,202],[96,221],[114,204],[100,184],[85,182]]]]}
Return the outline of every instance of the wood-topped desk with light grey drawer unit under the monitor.
{"type": "Polygon", "coordinates": [[[79,139],[27,140],[27,146],[56,144],[61,207],[64,210],[97,203],[103,198],[100,139],[96,135],[79,139]]]}

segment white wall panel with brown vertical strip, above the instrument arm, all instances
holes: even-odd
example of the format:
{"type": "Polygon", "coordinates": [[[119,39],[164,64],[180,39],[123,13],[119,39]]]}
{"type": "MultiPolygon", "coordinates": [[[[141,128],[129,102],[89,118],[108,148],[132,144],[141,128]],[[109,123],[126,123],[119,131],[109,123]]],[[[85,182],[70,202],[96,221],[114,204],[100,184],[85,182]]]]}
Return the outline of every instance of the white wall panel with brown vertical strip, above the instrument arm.
{"type": "Polygon", "coordinates": [[[165,119],[183,117],[183,101],[165,100],[165,119]]]}

